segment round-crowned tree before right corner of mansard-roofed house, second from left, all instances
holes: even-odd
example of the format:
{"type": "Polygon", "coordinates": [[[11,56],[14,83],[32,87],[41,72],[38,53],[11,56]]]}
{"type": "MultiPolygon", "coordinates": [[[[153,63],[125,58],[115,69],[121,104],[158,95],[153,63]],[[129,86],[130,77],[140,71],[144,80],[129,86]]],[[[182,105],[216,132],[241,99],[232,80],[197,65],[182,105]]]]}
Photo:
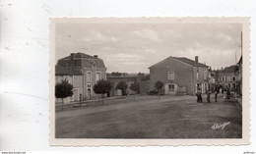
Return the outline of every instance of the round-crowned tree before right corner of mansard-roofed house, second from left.
{"type": "Polygon", "coordinates": [[[109,81],[104,79],[97,80],[94,86],[94,91],[96,94],[101,94],[102,105],[104,104],[104,94],[108,93],[110,90],[111,90],[111,84],[109,81]]]}

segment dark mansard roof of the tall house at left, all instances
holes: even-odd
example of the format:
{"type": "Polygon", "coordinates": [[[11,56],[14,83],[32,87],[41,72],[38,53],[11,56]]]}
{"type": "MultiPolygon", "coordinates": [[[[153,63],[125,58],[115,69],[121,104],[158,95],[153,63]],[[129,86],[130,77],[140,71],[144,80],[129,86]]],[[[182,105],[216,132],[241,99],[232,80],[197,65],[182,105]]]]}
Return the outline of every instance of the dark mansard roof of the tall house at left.
{"type": "MultiPolygon", "coordinates": [[[[74,53],[74,67],[86,67],[92,68],[96,66],[96,68],[105,68],[103,61],[97,57],[90,56],[81,52],[74,53]]],[[[71,56],[64,57],[58,60],[58,65],[63,67],[71,67],[71,56]]]]}

